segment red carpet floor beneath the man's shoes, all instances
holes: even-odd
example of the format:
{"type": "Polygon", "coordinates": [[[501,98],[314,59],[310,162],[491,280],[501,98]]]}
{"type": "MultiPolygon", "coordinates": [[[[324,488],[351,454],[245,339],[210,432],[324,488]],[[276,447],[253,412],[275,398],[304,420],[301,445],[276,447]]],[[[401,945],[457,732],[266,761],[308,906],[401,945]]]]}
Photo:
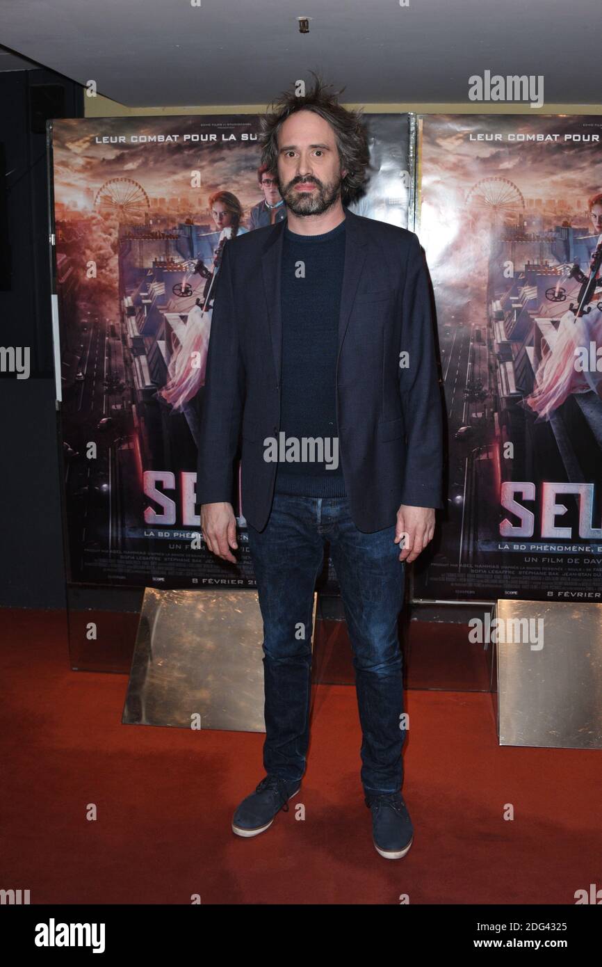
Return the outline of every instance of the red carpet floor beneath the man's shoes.
{"type": "Polygon", "coordinates": [[[126,676],[72,672],[64,615],[0,620],[0,887],[32,904],[571,904],[602,886],[600,752],[499,747],[489,694],[407,692],[405,859],[372,845],[348,686],[318,687],[301,792],[245,840],[230,820],[263,735],[122,725],[126,676]]]}

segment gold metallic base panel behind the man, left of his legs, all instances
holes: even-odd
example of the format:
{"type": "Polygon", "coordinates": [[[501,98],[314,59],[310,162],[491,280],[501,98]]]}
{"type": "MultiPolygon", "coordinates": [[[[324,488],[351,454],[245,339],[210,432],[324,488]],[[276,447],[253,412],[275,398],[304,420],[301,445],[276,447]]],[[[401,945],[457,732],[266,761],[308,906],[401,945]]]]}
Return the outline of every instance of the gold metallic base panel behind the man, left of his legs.
{"type": "Polygon", "coordinates": [[[265,732],[262,644],[257,592],[147,588],[122,721],[265,732]]]}

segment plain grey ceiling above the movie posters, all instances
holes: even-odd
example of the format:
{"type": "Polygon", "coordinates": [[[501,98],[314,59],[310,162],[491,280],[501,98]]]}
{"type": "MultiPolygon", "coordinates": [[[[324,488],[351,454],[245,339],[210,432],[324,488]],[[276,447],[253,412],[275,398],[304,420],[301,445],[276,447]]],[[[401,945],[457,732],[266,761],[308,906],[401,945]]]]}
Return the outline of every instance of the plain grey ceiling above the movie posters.
{"type": "Polygon", "coordinates": [[[21,55],[129,106],[266,104],[309,70],[343,103],[467,102],[486,70],[602,101],[600,0],[0,0],[0,20],[0,70],[21,55]]]}

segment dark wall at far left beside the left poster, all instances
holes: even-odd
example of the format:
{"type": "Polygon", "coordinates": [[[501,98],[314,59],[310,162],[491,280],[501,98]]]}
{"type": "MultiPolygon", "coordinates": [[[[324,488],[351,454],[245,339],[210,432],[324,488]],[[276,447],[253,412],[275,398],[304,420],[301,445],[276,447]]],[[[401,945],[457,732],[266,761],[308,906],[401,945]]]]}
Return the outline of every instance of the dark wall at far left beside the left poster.
{"type": "Polygon", "coordinates": [[[65,606],[45,132],[61,116],[83,117],[78,84],[43,69],[0,73],[0,346],[30,350],[28,379],[0,371],[0,606],[65,606]]]}

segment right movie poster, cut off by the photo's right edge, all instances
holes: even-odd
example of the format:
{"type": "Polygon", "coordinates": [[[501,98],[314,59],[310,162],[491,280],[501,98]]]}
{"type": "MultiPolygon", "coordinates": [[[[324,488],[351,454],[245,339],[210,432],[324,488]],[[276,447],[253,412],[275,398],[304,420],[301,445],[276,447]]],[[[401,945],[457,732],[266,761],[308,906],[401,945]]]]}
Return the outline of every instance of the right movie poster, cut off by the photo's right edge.
{"type": "Polygon", "coordinates": [[[602,599],[602,119],[418,120],[446,513],[415,597],[602,599]]]}

